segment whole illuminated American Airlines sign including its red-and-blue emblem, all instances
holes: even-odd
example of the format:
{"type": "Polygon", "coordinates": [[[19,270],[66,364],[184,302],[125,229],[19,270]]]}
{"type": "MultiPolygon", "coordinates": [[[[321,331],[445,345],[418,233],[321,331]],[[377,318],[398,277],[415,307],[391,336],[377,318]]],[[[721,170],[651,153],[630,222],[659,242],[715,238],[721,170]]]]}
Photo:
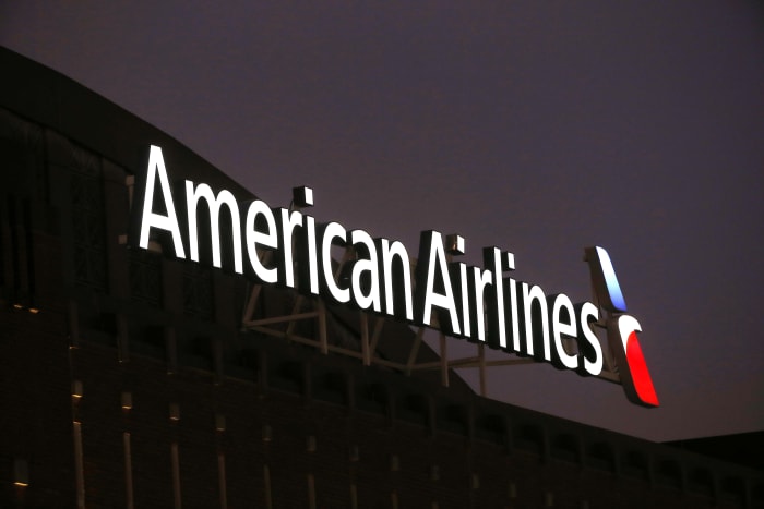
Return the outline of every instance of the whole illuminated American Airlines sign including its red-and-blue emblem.
{"type": "MultiPolygon", "coordinates": [[[[537,284],[505,277],[515,269],[510,252],[486,247],[485,267],[468,266],[450,257],[464,254],[464,238],[429,230],[421,233],[411,274],[408,251],[399,241],[348,231],[338,222],[317,223],[300,210],[271,208],[260,199],[240,203],[229,191],[215,193],[205,183],[187,180],[181,192],[186,203],[177,209],[162,149],[152,146],[146,173],[138,175],[135,183],[132,246],[145,250],[155,237],[163,242],[163,251],[177,258],[200,262],[204,251],[205,262],[213,267],[261,283],[439,328],[581,375],[597,376],[602,371],[605,356],[593,329],[600,322],[600,307],[573,303],[563,293],[548,295],[537,284]],[[200,240],[200,229],[205,230],[201,238],[206,243],[200,240]],[[335,245],[351,246],[356,253],[339,275],[332,258],[335,245]]],[[[297,205],[312,206],[312,190],[300,187],[299,192],[297,205]]],[[[587,250],[587,259],[599,304],[608,314],[609,346],[626,396],[637,404],[657,407],[636,339],[640,325],[623,314],[625,303],[610,258],[595,247],[587,250]],[[624,375],[624,371],[631,373],[624,375]]]]}

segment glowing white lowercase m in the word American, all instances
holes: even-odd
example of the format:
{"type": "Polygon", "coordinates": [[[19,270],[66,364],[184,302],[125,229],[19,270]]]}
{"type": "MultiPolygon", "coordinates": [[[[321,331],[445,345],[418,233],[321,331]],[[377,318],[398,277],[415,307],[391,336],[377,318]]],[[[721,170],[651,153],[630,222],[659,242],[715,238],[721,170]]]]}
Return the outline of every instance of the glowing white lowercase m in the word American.
{"type": "Polygon", "coordinates": [[[199,235],[196,230],[196,207],[199,199],[204,198],[210,207],[210,234],[212,237],[212,265],[220,268],[220,205],[226,204],[230,211],[231,219],[231,235],[234,251],[234,270],[237,274],[243,272],[243,263],[241,262],[241,221],[239,219],[239,204],[230,191],[223,190],[217,193],[217,197],[212,192],[212,187],[207,184],[199,184],[193,189],[193,182],[186,181],[186,208],[189,217],[189,249],[191,250],[190,258],[199,262],[199,235]]]}

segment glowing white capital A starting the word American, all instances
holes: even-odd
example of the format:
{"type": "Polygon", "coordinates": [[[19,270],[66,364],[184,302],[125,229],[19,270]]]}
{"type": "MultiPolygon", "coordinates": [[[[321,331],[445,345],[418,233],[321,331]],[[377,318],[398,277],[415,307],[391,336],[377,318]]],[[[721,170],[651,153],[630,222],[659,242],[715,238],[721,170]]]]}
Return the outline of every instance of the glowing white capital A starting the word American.
{"type": "Polygon", "coordinates": [[[165,169],[165,160],[162,157],[162,148],[152,145],[148,152],[148,168],[146,169],[146,185],[143,193],[143,214],[141,215],[141,234],[139,246],[142,249],[148,247],[148,234],[152,228],[165,230],[172,235],[172,244],[175,245],[175,255],[178,258],[186,258],[183,251],[183,241],[180,237],[180,228],[178,227],[178,216],[175,213],[172,203],[172,193],[170,184],[167,180],[167,170],[165,169]],[[156,174],[159,175],[159,190],[162,197],[165,201],[167,216],[154,214],[154,185],[156,184],[156,174]]]}

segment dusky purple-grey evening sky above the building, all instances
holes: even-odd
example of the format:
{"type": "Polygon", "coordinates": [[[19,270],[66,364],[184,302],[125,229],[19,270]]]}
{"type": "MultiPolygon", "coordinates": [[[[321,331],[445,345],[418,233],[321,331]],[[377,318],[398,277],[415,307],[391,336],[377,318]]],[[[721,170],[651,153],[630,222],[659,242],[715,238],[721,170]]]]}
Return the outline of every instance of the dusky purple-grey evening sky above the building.
{"type": "Polygon", "coordinates": [[[546,364],[491,397],[656,440],[764,429],[761,3],[213,3],[3,2],[0,45],[272,206],[310,185],[319,220],[409,252],[458,232],[574,300],[606,246],[661,408],[546,364]]]}

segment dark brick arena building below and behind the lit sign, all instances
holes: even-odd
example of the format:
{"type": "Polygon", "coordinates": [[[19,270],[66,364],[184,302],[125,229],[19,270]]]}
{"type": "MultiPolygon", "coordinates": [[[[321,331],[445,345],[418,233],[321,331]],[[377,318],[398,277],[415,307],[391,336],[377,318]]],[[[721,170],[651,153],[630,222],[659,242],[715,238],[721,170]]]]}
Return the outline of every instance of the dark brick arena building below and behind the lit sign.
{"type": "Polygon", "coordinates": [[[761,471],[402,368],[438,356],[392,319],[130,250],[152,144],[252,195],[67,77],[0,62],[0,507],[764,507],[761,471]]]}

